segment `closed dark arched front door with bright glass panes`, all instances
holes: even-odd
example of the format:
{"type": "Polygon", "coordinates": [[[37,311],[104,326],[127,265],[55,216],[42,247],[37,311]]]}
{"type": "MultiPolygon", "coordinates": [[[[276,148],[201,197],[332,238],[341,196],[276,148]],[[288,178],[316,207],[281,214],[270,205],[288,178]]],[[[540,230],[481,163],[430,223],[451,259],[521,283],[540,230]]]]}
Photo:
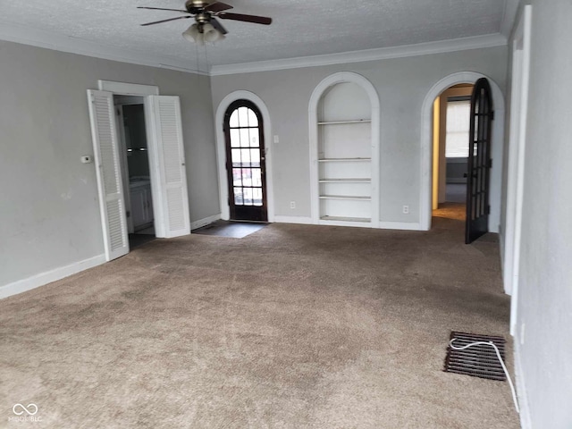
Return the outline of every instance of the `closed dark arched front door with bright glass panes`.
{"type": "Polygon", "coordinates": [[[262,114],[237,100],[224,114],[231,220],[266,222],[265,141],[262,114]]]}

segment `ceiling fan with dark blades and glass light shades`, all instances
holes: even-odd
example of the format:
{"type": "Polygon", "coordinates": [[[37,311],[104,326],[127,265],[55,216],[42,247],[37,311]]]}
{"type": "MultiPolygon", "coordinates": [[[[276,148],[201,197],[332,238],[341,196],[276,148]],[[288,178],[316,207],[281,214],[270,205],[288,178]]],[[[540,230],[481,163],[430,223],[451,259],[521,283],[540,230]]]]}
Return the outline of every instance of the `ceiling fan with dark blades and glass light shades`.
{"type": "Polygon", "coordinates": [[[187,0],[185,2],[185,10],[182,9],[165,9],[163,7],[147,7],[139,6],[138,9],[151,9],[155,11],[172,11],[184,13],[184,16],[177,16],[175,18],[169,18],[167,20],[147,22],[141,24],[142,26],[160,24],[162,22],[184,20],[188,18],[195,18],[195,23],[189,27],[184,33],[183,37],[189,39],[190,41],[195,41],[199,43],[214,42],[220,38],[223,38],[228,31],[223,27],[223,25],[217,20],[232,20],[232,21],[244,21],[244,22],[254,22],[256,24],[270,25],[272,23],[272,18],[267,18],[265,16],[257,15],[245,15],[243,13],[229,13],[226,12],[232,9],[230,4],[224,4],[222,2],[216,1],[205,1],[205,0],[187,0]]]}

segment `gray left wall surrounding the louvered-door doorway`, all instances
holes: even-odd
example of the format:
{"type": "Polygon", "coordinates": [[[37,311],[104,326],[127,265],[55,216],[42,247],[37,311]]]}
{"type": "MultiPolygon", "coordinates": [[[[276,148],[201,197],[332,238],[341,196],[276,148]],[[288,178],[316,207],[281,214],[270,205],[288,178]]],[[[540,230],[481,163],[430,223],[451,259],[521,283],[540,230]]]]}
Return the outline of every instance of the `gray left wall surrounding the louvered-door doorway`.
{"type": "Polygon", "coordinates": [[[191,221],[220,213],[207,77],[0,41],[0,286],[104,252],[86,89],[181,97],[191,221]]]}

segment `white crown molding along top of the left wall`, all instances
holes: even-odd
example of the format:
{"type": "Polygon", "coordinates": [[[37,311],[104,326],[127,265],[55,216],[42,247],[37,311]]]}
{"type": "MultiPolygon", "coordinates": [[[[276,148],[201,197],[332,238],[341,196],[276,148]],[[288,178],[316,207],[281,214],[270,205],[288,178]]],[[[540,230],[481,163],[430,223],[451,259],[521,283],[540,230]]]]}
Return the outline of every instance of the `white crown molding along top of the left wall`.
{"type": "Polygon", "coordinates": [[[23,45],[44,47],[70,54],[86,55],[104,60],[159,67],[207,75],[208,71],[198,70],[197,63],[163,55],[149,55],[147,52],[100,45],[82,38],[71,38],[51,31],[33,29],[23,25],[0,22],[0,39],[23,45]]]}

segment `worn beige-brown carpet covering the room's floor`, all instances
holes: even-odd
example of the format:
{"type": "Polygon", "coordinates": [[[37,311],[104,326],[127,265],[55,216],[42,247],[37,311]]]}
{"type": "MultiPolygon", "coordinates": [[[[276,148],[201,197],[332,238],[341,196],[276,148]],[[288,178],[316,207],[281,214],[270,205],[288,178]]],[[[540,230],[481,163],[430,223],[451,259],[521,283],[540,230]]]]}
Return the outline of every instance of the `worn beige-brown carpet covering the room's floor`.
{"type": "Polygon", "coordinates": [[[451,330],[509,340],[463,225],[155,240],[4,299],[0,427],[517,428],[508,383],[442,371],[451,330]]]}

